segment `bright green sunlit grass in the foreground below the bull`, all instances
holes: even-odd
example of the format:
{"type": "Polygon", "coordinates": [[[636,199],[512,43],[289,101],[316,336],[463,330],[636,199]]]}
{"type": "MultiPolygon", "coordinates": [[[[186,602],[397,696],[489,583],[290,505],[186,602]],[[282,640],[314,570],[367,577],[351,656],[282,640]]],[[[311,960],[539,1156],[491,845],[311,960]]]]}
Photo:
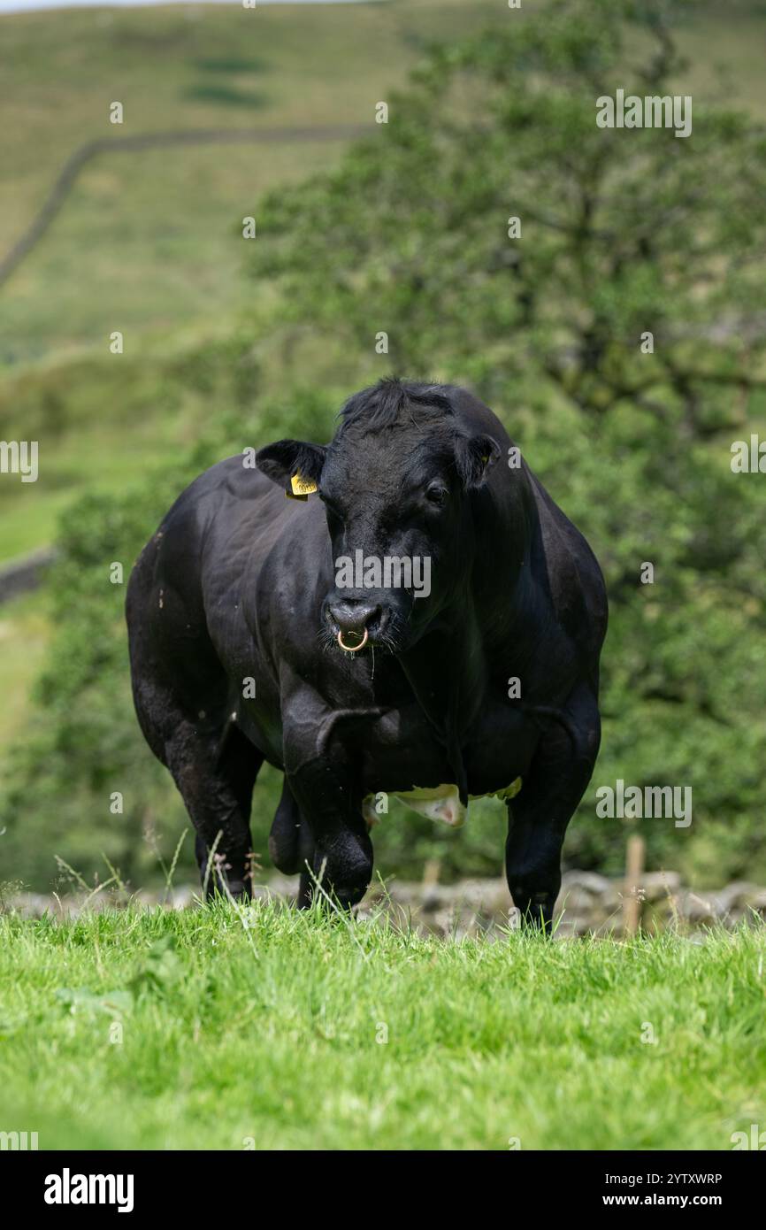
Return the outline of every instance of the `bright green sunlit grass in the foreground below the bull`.
{"type": "Polygon", "coordinates": [[[491,943],[248,916],[0,919],[4,1129],[41,1148],[725,1150],[765,1122],[762,929],[491,943]]]}

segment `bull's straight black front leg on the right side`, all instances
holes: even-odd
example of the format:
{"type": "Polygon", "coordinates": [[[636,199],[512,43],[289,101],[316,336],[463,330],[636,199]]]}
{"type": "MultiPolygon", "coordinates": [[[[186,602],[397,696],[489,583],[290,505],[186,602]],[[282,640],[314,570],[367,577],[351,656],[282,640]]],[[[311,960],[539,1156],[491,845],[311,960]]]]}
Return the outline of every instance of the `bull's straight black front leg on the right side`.
{"type": "Polygon", "coordinates": [[[561,888],[567,825],[590,781],[599,752],[595,696],[582,688],[566,706],[571,733],[551,726],[540,742],[521,791],[508,803],[505,875],[525,925],[550,930],[561,888]]]}

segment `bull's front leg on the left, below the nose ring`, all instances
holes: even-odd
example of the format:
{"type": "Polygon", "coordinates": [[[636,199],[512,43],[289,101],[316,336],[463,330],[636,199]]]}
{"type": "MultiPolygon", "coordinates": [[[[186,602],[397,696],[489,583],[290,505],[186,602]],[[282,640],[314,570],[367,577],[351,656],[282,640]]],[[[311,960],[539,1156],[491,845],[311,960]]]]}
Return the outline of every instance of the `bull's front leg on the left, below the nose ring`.
{"type": "MultiPolygon", "coordinates": [[[[309,888],[316,882],[344,909],[357,905],[373,878],[373,843],[361,815],[358,758],[332,734],[332,716],[285,729],[285,774],[314,839],[309,888]]],[[[314,887],[312,887],[314,886],[314,887]]],[[[301,894],[301,904],[307,904],[301,894]]]]}

